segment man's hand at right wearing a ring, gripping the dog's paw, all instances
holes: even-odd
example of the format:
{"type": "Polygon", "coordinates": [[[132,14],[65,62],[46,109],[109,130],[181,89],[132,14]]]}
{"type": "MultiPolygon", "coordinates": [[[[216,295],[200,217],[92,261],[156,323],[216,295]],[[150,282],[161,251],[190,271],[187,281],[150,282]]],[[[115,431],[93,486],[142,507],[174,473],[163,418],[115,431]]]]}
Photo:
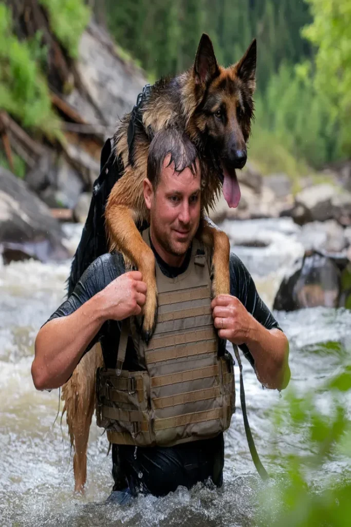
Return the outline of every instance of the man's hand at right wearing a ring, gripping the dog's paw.
{"type": "Polygon", "coordinates": [[[212,316],[218,336],[240,346],[257,328],[257,320],[240,300],[232,295],[219,295],[211,302],[212,316]]]}

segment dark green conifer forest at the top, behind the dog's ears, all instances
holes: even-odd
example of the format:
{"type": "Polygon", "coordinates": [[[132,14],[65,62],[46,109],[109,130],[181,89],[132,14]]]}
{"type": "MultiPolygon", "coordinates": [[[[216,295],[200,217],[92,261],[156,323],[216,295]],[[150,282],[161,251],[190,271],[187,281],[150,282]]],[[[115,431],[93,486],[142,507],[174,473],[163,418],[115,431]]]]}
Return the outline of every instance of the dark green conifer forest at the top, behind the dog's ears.
{"type": "Polygon", "coordinates": [[[119,45],[147,72],[175,75],[190,67],[203,32],[221,64],[239,60],[258,39],[258,85],[262,89],[280,62],[309,53],[299,30],[310,21],[304,2],[289,0],[106,0],[106,20],[119,45]],[[293,4],[293,5],[292,5],[293,4]]]}

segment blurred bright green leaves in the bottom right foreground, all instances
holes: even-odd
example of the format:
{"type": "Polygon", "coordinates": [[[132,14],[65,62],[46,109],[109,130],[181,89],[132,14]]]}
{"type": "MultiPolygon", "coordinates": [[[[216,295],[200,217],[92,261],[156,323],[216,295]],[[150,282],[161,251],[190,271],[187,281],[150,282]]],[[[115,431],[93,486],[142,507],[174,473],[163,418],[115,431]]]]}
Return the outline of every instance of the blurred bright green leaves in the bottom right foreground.
{"type": "Polygon", "coordinates": [[[351,366],[346,364],[318,389],[299,395],[291,390],[276,409],[276,432],[288,434],[290,444],[303,444],[304,448],[303,452],[289,452],[283,458],[274,453],[274,458],[280,458],[284,467],[284,476],[279,476],[262,492],[260,525],[349,525],[350,473],[326,477],[324,466],[337,460],[346,468],[351,461],[351,425],[344,403],[350,391],[351,366]]]}

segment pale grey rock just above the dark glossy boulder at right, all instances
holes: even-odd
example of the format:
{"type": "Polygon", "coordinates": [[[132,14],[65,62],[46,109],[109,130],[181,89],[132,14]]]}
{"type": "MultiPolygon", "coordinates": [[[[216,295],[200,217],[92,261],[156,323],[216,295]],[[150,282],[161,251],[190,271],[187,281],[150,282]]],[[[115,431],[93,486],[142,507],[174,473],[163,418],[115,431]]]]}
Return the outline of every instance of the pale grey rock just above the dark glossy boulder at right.
{"type": "Polygon", "coordinates": [[[306,251],[340,252],[347,246],[344,229],[335,220],[306,223],[298,239],[306,251]]]}

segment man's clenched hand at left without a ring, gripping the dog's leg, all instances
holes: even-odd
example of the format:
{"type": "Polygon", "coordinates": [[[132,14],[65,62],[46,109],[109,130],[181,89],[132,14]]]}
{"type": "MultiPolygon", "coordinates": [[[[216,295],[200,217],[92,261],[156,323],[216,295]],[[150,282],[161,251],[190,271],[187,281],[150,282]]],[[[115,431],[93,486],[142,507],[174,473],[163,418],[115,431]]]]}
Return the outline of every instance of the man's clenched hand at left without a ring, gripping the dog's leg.
{"type": "Polygon", "coordinates": [[[139,271],[129,271],[115,278],[98,293],[105,320],[123,320],[141,314],[146,300],[147,285],[139,271]]]}

